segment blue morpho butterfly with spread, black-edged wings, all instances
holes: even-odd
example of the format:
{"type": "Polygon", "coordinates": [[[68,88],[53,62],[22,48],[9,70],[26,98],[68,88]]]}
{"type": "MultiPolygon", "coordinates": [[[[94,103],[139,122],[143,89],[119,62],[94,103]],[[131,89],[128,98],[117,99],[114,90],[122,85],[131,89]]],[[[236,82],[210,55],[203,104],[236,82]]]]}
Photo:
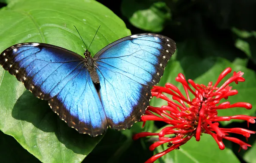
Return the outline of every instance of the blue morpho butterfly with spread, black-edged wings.
{"type": "Polygon", "coordinates": [[[79,133],[130,128],[145,113],[150,89],[176,50],[162,35],[124,37],[85,58],[45,43],[20,43],[0,54],[0,64],[79,133]]]}

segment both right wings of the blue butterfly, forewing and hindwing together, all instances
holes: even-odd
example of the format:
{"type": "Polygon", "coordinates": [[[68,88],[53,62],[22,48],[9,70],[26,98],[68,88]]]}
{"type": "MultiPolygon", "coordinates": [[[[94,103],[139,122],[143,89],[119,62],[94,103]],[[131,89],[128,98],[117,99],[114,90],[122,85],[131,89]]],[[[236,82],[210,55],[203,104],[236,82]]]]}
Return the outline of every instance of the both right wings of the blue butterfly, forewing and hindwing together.
{"type": "Polygon", "coordinates": [[[149,106],[150,89],[159,82],[175,50],[172,39],[143,33],[119,39],[94,56],[110,127],[125,129],[140,120],[149,106]]]}

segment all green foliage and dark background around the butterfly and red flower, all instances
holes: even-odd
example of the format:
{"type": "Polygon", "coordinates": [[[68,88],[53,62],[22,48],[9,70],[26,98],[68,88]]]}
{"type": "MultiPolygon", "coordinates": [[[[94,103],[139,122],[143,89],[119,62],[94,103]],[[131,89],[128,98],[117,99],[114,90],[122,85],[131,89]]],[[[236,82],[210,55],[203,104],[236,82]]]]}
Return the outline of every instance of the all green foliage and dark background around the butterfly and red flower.
{"type": "MultiPolygon", "coordinates": [[[[236,85],[239,93],[229,101],[256,105],[256,0],[120,0],[115,4],[111,0],[98,1],[0,0],[0,52],[15,43],[46,42],[83,54],[82,41],[73,25],[87,45],[101,25],[90,48],[92,54],[131,33],[158,32],[177,43],[177,51],[158,85],[170,82],[181,88],[175,82],[178,73],[196,83],[216,82],[222,70],[230,66],[234,71],[243,71],[246,82],[236,85]]],[[[153,155],[148,147],[154,139],[132,141],[132,135],[163,127],[162,123],[151,123],[141,129],[142,124],[136,123],[131,130],[108,130],[104,136],[91,138],[67,127],[45,101],[25,91],[22,83],[3,69],[0,92],[1,162],[140,163],[153,155]]],[[[166,104],[153,99],[151,105],[166,104]]],[[[222,110],[219,114],[255,116],[255,108],[222,110]]],[[[241,121],[221,125],[247,128],[241,121]]],[[[255,131],[256,125],[250,125],[249,130],[255,131]]],[[[192,139],[158,162],[182,162],[188,158],[211,163],[218,156],[218,162],[232,157],[234,162],[240,159],[253,163],[255,138],[251,136],[248,142],[252,148],[238,153],[238,145],[229,143],[225,151],[219,151],[203,136],[200,143],[192,139]]],[[[157,152],[158,149],[154,151],[157,152]]]]}

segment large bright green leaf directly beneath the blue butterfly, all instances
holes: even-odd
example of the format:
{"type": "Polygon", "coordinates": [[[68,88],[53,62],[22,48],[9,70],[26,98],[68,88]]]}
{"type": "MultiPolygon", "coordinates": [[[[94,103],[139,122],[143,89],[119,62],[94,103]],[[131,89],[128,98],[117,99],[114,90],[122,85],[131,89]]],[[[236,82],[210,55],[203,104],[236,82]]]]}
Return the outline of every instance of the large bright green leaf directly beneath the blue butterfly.
{"type": "MultiPolygon", "coordinates": [[[[130,34],[124,22],[93,0],[16,0],[0,9],[0,51],[21,42],[45,42],[83,54],[99,27],[90,51],[130,34]]],[[[42,162],[81,162],[102,136],[91,138],[67,126],[46,101],[25,91],[0,69],[0,130],[13,136],[42,162]]]]}

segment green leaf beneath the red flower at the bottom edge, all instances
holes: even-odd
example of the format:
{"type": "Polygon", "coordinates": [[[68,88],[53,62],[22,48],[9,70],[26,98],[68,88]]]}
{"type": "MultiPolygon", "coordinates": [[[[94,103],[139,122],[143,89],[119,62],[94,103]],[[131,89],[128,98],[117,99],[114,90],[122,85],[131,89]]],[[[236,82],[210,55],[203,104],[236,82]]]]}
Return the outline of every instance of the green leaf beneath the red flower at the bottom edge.
{"type": "MultiPolygon", "coordinates": [[[[166,150],[167,143],[157,147],[154,154],[166,150]]],[[[160,157],[155,163],[240,163],[235,154],[228,148],[220,150],[215,140],[208,134],[203,134],[199,142],[193,137],[180,149],[160,157]]]]}

